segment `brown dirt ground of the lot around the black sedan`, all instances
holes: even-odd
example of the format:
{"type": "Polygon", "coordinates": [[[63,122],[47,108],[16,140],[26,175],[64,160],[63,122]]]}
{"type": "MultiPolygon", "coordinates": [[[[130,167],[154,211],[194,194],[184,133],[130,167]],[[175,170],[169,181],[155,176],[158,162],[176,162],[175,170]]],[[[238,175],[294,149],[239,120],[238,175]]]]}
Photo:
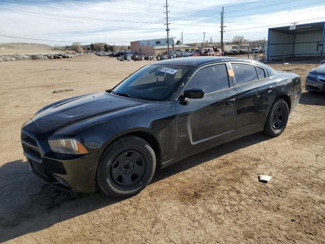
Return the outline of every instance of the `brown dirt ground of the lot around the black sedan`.
{"type": "MultiPolygon", "coordinates": [[[[257,133],[185,159],[129,199],[62,192],[29,173],[25,120],[147,63],[88,54],[0,64],[0,242],[325,243],[325,95],[304,92],[280,137],[257,133]],[[52,93],[63,88],[74,91],[52,93]]],[[[318,62],[271,66],[304,83],[318,62]]]]}

